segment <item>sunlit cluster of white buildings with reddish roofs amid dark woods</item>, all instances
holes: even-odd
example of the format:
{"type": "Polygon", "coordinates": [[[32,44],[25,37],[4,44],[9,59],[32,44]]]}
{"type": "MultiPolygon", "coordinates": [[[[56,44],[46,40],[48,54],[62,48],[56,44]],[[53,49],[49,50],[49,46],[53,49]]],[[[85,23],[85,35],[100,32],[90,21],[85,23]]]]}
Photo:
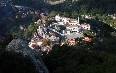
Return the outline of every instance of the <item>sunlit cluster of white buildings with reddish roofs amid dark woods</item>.
{"type": "Polygon", "coordinates": [[[36,24],[41,24],[38,26],[36,32],[33,34],[33,38],[29,42],[29,47],[31,49],[39,48],[42,52],[46,51],[49,53],[54,44],[59,44],[60,46],[64,44],[74,46],[77,42],[91,42],[90,37],[83,35],[84,30],[91,30],[90,25],[88,23],[80,24],[79,17],[73,19],[57,14],[53,20],[55,22],[48,25],[42,23],[43,21],[41,19],[35,22],[36,24]]]}

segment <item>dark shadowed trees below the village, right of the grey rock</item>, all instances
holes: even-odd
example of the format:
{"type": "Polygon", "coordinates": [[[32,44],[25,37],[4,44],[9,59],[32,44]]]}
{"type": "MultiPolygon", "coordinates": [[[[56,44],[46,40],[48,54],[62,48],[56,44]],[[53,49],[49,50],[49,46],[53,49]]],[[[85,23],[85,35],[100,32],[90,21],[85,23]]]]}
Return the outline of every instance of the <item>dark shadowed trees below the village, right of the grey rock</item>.
{"type": "Polygon", "coordinates": [[[44,63],[50,73],[114,73],[116,38],[103,39],[104,42],[95,40],[94,44],[83,42],[74,47],[55,45],[43,56],[44,63]]]}

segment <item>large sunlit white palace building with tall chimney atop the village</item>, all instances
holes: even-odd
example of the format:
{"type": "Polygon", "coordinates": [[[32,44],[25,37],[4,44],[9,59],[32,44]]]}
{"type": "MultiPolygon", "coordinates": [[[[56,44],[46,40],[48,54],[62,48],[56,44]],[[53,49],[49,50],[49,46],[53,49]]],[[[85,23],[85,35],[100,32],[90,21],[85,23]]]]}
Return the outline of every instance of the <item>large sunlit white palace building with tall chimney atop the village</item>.
{"type": "Polygon", "coordinates": [[[57,21],[56,25],[66,26],[66,30],[63,33],[65,35],[80,34],[84,29],[90,30],[89,24],[80,24],[79,17],[78,19],[72,19],[56,15],[55,20],[57,21]]]}

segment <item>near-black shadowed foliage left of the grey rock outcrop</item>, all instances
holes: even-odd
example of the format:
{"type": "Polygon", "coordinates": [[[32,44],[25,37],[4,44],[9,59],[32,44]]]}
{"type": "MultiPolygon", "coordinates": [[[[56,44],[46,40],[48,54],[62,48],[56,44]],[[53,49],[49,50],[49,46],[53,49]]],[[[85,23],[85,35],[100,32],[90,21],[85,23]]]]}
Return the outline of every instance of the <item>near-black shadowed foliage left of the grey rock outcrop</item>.
{"type": "Polygon", "coordinates": [[[0,73],[36,73],[35,66],[29,57],[20,53],[0,50],[0,73]]]}

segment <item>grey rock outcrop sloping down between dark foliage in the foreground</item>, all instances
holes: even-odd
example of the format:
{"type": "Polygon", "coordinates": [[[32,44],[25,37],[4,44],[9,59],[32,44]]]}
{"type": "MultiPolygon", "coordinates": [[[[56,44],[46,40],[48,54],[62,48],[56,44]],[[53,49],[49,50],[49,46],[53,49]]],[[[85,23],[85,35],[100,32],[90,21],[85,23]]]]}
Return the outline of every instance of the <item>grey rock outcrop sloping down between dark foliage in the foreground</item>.
{"type": "Polygon", "coordinates": [[[30,56],[36,66],[38,73],[49,73],[41,57],[36,54],[35,50],[28,47],[28,43],[22,39],[13,39],[6,47],[8,51],[21,52],[24,56],[30,56]]]}

